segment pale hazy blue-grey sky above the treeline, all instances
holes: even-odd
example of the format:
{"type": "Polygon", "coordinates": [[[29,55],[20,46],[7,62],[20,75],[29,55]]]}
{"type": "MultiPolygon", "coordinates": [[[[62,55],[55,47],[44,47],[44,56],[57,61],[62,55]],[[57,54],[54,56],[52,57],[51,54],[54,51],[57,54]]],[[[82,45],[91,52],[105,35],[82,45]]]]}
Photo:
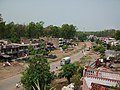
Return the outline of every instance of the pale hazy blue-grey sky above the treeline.
{"type": "Polygon", "coordinates": [[[80,31],[120,30],[120,0],[0,0],[7,23],[73,24],[80,31]]]}

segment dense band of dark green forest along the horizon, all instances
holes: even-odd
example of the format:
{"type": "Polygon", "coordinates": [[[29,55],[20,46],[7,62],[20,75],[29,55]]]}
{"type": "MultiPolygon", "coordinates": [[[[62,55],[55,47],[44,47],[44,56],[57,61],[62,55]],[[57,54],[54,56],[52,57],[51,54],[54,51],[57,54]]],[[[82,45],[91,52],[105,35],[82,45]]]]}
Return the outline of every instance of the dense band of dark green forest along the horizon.
{"type": "Polygon", "coordinates": [[[49,25],[44,27],[44,22],[30,22],[29,24],[6,23],[0,14],[0,39],[9,39],[12,42],[19,42],[20,37],[38,38],[38,37],[56,37],[73,39],[78,38],[81,41],[88,35],[114,37],[116,30],[104,30],[96,32],[78,31],[72,24],[63,24],[62,26],[49,25]]]}

